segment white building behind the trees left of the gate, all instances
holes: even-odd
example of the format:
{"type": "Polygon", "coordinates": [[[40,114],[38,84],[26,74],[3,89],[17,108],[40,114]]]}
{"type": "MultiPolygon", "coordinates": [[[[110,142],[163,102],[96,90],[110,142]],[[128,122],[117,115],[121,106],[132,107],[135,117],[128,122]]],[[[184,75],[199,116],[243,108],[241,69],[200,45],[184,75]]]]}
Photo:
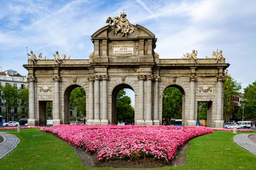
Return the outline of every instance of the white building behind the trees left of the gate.
{"type": "MultiPolygon", "coordinates": [[[[4,72],[0,72],[0,85],[5,86],[7,84],[10,84],[17,88],[25,88],[28,83],[26,76],[22,76],[17,73],[17,71],[9,69],[4,72]]],[[[3,119],[7,121],[7,105],[5,105],[4,103],[5,102],[2,99],[2,93],[0,92],[0,115],[3,116],[3,119]]],[[[20,105],[22,105],[22,103],[19,103],[17,107],[11,110],[11,112],[9,113],[9,121],[17,121],[17,119],[25,118],[18,118],[17,116],[15,116],[20,105]]]]}

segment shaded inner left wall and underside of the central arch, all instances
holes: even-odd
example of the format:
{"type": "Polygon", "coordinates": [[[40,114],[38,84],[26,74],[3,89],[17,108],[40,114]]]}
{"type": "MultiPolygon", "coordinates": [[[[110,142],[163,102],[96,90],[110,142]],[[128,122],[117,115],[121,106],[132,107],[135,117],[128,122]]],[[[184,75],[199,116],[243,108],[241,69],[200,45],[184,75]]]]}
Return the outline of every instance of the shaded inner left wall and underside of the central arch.
{"type": "MultiPolygon", "coordinates": [[[[131,89],[132,91],[134,91],[134,89],[130,85],[127,85],[124,83],[116,85],[116,87],[113,88],[112,99],[111,99],[111,103],[112,103],[111,122],[112,123],[116,123],[116,95],[120,90],[122,90],[124,88],[128,88],[128,89],[131,89]]],[[[136,114],[136,112],[134,113],[134,117],[135,117],[135,114],[136,114]]]]}

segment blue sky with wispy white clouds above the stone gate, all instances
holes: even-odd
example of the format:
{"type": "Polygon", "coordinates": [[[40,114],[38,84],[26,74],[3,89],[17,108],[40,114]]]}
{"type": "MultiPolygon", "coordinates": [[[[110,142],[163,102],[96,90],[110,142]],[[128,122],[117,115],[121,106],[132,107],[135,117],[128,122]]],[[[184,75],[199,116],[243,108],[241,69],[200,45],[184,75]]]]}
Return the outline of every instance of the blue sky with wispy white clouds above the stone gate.
{"type": "Polygon", "coordinates": [[[1,0],[0,67],[26,75],[26,47],[48,59],[55,51],[88,59],[90,36],[124,10],[156,35],[160,59],[192,49],[205,58],[218,48],[245,88],[256,80],[255,9],[255,0],[1,0]]]}

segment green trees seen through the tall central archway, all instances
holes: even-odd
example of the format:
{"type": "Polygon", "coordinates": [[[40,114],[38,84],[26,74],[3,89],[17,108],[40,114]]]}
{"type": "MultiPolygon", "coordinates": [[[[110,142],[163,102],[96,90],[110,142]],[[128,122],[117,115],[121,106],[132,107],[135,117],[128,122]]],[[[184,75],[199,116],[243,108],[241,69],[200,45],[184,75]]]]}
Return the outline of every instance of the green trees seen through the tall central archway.
{"type": "Polygon", "coordinates": [[[116,94],[116,119],[119,121],[134,119],[134,108],[131,107],[131,98],[125,95],[125,89],[120,90],[116,94]]]}

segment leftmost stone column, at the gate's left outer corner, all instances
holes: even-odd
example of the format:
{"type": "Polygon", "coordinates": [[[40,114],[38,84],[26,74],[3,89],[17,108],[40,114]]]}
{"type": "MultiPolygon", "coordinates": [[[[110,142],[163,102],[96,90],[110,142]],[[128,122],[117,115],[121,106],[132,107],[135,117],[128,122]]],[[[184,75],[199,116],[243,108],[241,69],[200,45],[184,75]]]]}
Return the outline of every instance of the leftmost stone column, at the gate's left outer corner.
{"type": "Polygon", "coordinates": [[[36,118],[36,100],[35,100],[35,78],[28,77],[27,81],[29,82],[29,126],[37,126],[36,118]]]}

